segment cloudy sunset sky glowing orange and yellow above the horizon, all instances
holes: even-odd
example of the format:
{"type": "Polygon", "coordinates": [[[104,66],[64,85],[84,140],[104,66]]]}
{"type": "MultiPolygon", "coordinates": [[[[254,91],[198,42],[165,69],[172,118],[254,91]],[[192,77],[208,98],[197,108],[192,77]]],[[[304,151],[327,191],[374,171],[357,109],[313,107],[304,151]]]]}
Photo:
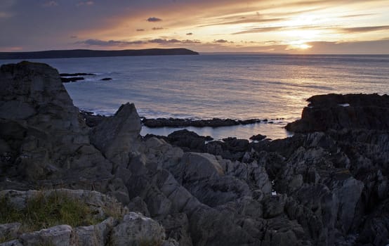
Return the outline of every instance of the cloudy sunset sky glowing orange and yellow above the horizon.
{"type": "Polygon", "coordinates": [[[0,0],[0,51],[389,54],[389,0],[0,0]]]}

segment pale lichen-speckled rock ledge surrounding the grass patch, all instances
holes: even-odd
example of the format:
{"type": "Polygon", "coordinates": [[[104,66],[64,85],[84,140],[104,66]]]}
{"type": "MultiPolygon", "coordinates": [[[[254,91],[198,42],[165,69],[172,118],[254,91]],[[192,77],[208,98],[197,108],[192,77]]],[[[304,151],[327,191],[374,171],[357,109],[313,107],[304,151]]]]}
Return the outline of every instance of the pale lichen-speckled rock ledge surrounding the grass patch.
{"type": "Polygon", "coordinates": [[[0,238],[11,238],[0,245],[175,245],[174,240],[165,241],[164,228],[157,222],[142,214],[128,212],[116,200],[95,191],[88,190],[17,190],[0,191],[0,199],[6,199],[11,205],[23,209],[27,200],[37,195],[67,195],[79,202],[84,202],[93,210],[100,223],[90,226],[72,228],[69,225],[58,225],[44,228],[41,231],[25,232],[20,223],[0,224],[0,238]],[[109,209],[107,209],[109,208],[109,209]],[[114,218],[107,211],[115,209],[114,218]],[[124,214],[124,216],[122,215],[124,214]]]}

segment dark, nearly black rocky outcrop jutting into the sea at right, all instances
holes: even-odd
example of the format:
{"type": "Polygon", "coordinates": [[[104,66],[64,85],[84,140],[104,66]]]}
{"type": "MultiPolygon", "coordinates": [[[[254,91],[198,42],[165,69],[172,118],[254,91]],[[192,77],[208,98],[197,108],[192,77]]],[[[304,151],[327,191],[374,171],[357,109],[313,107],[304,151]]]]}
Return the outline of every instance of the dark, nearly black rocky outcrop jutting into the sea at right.
{"type": "Polygon", "coordinates": [[[301,119],[286,125],[288,131],[328,129],[389,129],[389,96],[329,94],[312,96],[301,119]]]}

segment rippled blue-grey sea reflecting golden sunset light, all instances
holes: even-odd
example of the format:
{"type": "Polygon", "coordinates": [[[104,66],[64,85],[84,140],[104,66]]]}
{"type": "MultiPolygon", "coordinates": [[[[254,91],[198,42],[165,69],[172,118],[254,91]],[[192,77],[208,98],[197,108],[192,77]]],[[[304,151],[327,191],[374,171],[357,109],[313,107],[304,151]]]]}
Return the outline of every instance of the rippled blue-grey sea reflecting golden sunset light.
{"type": "MultiPolygon", "coordinates": [[[[268,119],[268,123],[220,128],[187,127],[215,139],[263,134],[291,136],[284,126],[301,117],[307,98],[324,93],[389,93],[389,56],[211,54],[37,59],[60,73],[86,72],[65,84],[81,110],[112,115],[135,103],[147,118],[268,119]],[[110,81],[101,81],[110,77],[110,81]]],[[[0,64],[18,60],[0,60],[0,64]]],[[[141,134],[167,135],[177,128],[141,134]]]]}

